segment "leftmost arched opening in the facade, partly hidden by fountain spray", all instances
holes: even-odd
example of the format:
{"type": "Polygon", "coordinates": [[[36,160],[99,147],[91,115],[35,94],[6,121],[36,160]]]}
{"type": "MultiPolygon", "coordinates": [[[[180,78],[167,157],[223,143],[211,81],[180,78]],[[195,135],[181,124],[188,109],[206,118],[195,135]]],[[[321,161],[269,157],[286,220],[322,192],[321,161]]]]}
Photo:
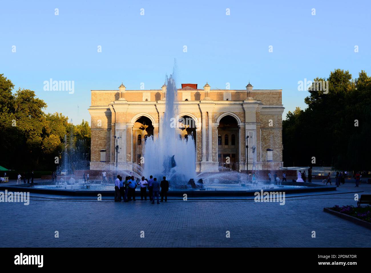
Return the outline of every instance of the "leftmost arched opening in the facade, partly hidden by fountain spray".
{"type": "Polygon", "coordinates": [[[147,116],[140,116],[133,126],[133,159],[135,163],[141,165],[141,156],[144,154],[144,141],[153,136],[154,127],[151,119],[147,116]]]}

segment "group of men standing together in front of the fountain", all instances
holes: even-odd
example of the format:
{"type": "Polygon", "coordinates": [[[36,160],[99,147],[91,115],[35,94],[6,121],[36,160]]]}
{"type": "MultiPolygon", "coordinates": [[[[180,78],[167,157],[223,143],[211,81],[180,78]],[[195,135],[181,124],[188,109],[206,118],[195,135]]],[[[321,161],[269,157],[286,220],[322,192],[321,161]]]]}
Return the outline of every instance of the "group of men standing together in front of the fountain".
{"type": "Polygon", "coordinates": [[[137,186],[140,187],[140,195],[141,200],[147,200],[147,187],[148,187],[148,195],[150,197],[150,201],[152,204],[155,203],[155,198],[157,198],[157,204],[164,201],[167,202],[167,192],[169,190],[169,181],[166,180],[166,177],[162,177],[162,181],[159,183],[157,178],[153,178],[152,175],[150,179],[147,180],[142,176],[142,179],[136,181],[134,176],[127,176],[125,180],[122,180],[120,175],[117,175],[115,180],[115,202],[121,201],[121,197],[124,199],[125,202],[128,202],[133,198],[135,201],[135,189],[137,186]],[[160,195],[160,188],[161,188],[161,201],[159,201],[160,195]]]}

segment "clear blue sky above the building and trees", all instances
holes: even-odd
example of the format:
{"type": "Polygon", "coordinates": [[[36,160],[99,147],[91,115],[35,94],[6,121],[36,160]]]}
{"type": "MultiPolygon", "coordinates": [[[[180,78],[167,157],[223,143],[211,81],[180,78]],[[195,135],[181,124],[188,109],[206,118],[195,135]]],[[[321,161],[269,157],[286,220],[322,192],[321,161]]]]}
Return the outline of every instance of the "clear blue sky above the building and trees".
{"type": "Polygon", "coordinates": [[[299,80],[335,68],[371,74],[370,10],[370,1],[3,1],[0,73],[34,90],[46,112],[90,123],[91,89],[160,89],[176,59],[178,86],[283,89],[285,118],[305,108],[299,80]],[[44,91],[50,78],[74,80],[75,93],[44,91]]]}

